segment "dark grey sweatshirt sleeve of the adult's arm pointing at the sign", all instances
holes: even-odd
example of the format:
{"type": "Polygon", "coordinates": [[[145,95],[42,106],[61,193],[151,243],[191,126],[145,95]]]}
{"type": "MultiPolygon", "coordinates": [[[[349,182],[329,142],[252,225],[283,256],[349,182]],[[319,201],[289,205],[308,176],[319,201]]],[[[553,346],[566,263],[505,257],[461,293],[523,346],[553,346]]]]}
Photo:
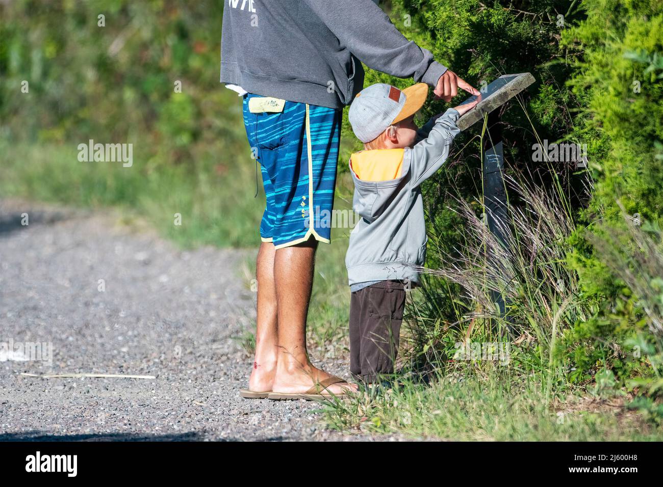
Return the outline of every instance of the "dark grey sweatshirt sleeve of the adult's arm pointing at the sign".
{"type": "Polygon", "coordinates": [[[407,40],[373,0],[302,0],[369,68],[435,86],[447,68],[407,40]]]}

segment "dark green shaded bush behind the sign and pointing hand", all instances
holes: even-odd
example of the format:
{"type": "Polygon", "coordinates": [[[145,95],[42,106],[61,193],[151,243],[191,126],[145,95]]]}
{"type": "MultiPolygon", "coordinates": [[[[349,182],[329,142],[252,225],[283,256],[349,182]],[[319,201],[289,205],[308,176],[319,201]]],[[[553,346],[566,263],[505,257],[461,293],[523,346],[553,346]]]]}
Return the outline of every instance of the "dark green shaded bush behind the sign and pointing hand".
{"type": "MultiPolygon", "coordinates": [[[[503,74],[531,72],[536,83],[519,101],[511,101],[503,114],[505,160],[509,171],[526,170],[546,186],[559,186],[577,204],[581,178],[575,168],[531,162],[532,144],[566,140],[572,132],[572,110],[579,101],[566,87],[570,66],[560,63],[560,34],[577,19],[582,19],[573,1],[530,2],[477,0],[395,0],[392,19],[412,40],[431,50],[440,60],[477,88],[503,74]],[[524,5],[527,5],[525,7],[524,5]],[[558,15],[564,15],[559,25],[558,15]],[[522,103],[522,106],[520,105],[522,103]],[[556,180],[559,178],[559,180],[556,180]]],[[[391,81],[403,86],[410,81],[395,80],[369,72],[367,83],[391,81]]],[[[467,97],[459,93],[451,106],[467,97]]],[[[424,118],[446,109],[442,101],[430,97],[424,118]]],[[[424,186],[429,233],[434,246],[429,249],[429,265],[439,266],[441,256],[452,252],[462,237],[463,222],[452,208],[457,197],[475,204],[481,213],[481,140],[480,125],[456,139],[457,152],[445,168],[424,186]],[[460,150],[462,148],[462,150],[460,150]],[[479,204],[476,204],[479,203],[479,204]],[[432,250],[432,251],[430,251],[432,250]]],[[[517,203],[514,199],[513,203],[517,203]]]]}

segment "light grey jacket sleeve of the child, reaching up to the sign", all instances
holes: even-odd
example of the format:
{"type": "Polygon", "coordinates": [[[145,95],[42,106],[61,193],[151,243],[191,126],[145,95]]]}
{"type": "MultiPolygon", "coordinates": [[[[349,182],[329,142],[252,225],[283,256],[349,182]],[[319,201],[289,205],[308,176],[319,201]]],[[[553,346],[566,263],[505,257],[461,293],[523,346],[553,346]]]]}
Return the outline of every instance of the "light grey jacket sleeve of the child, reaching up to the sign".
{"type": "Polygon", "coordinates": [[[435,174],[449,157],[453,138],[460,133],[456,126],[460,114],[453,108],[444,112],[421,142],[412,148],[410,181],[412,187],[420,186],[435,174]]]}

